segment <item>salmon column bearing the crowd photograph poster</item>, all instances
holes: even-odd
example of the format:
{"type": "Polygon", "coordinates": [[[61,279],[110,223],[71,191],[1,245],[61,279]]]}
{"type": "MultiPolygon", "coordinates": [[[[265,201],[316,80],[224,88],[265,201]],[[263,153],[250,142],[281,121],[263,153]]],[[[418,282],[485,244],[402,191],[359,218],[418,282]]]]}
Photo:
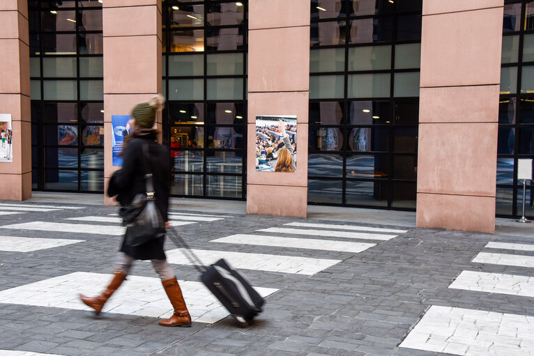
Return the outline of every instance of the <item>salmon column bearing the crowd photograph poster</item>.
{"type": "Polygon", "coordinates": [[[247,213],[306,217],[310,0],[250,0],[247,213]],[[256,116],[297,116],[297,170],[256,171],[256,116]]]}

